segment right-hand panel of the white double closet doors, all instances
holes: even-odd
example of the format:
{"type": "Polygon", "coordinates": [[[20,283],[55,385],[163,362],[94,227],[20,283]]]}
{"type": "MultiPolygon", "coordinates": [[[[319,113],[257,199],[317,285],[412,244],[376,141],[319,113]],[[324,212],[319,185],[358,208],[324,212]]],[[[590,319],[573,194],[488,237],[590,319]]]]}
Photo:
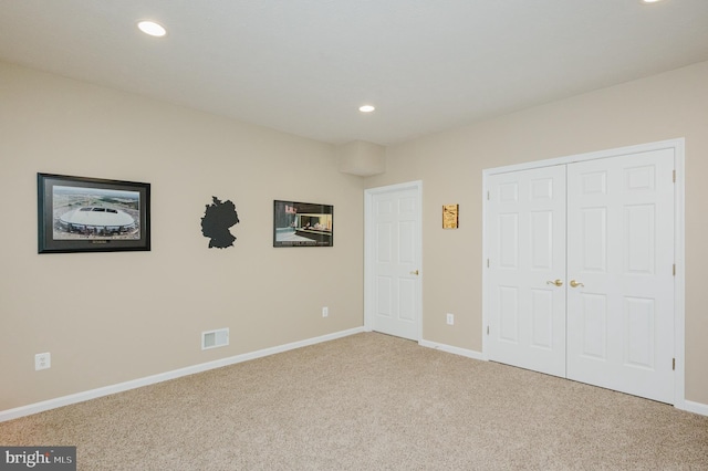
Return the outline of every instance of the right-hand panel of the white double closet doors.
{"type": "Polygon", "coordinates": [[[673,149],[568,166],[570,379],[674,401],[673,169],[673,149]]]}

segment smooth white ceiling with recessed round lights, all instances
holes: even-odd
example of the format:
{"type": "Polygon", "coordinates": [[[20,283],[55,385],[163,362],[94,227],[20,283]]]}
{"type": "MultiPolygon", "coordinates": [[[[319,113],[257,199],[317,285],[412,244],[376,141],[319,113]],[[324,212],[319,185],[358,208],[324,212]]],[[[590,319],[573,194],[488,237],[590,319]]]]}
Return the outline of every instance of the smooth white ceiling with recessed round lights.
{"type": "Polygon", "coordinates": [[[388,145],[708,61],[708,0],[0,0],[0,60],[388,145]]]}

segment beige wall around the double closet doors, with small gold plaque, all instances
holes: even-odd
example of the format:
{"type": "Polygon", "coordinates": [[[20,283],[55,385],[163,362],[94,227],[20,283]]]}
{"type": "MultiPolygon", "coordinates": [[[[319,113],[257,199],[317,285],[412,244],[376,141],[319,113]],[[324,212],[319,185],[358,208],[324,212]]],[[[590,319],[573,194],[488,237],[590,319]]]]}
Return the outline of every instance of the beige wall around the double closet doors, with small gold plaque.
{"type": "Polygon", "coordinates": [[[483,169],[677,137],[686,138],[686,399],[708,404],[708,62],[389,147],[386,174],[366,187],[423,180],[424,338],[481,352],[483,169]],[[458,230],[440,227],[446,203],[460,203],[458,230]]]}

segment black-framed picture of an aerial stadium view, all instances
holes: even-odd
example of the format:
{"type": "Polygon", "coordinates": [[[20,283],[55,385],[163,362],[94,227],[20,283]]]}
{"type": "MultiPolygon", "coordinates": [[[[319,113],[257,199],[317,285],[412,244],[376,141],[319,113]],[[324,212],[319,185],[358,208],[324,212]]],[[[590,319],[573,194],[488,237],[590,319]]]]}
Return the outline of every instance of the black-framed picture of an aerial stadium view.
{"type": "Polygon", "coordinates": [[[38,253],[150,250],[150,184],[37,174],[38,253]]]}

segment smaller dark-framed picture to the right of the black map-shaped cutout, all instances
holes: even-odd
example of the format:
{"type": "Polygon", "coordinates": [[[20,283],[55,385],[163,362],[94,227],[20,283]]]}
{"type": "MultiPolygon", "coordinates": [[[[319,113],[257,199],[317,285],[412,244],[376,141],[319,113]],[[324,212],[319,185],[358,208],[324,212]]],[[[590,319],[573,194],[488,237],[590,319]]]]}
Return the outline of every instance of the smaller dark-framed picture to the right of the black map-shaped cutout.
{"type": "Polygon", "coordinates": [[[334,206],[273,200],[273,247],[334,247],[334,206]]]}

